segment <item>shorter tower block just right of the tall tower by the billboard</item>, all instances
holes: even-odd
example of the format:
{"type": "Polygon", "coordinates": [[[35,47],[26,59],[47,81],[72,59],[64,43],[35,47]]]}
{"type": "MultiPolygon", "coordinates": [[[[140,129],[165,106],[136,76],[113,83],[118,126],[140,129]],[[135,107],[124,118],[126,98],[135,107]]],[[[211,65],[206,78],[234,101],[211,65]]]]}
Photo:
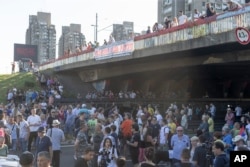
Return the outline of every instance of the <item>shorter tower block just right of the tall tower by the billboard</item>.
{"type": "Polygon", "coordinates": [[[62,26],[62,34],[59,38],[58,57],[65,55],[68,51],[77,52],[77,48],[82,48],[86,44],[85,36],[81,33],[80,24],[70,24],[62,26]]]}

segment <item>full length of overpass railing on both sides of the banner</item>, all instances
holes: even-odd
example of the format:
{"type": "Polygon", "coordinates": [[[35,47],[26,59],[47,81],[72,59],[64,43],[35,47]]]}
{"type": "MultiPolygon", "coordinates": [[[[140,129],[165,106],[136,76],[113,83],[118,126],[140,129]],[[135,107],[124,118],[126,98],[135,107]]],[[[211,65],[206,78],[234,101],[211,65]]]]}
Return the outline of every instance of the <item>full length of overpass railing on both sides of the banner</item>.
{"type": "MultiPolygon", "coordinates": [[[[137,36],[134,38],[133,49],[142,50],[150,47],[192,40],[195,38],[209,36],[212,34],[219,34],[223,32],[232,31],[236,27],[250,27],[250,6],[246,6],[237,11],[225,12],[209,18],[199,19],[195,22],[188,22],[184,25],[180,25],[170,29],[137,36]]],[[[128,42],[131,43],[131,41],[128,42]]],[[[111,47],[112,46],[107,45],[108,50],[112,50],[111,47]]],[[[175,49],[177,50],[178,48],[175,49]]],[[[96,49],[96,51],[97,50],[98,48],[96,49]]],[[[85,51],[80,54],[72,54],[69,56],[58,58],[56,60],[52,60],[50,62],[40,65],[40,70],[58,68],[66,64],[77,63],[87,60],[97,60],[95,59],[94,50],[85,51]]]]}

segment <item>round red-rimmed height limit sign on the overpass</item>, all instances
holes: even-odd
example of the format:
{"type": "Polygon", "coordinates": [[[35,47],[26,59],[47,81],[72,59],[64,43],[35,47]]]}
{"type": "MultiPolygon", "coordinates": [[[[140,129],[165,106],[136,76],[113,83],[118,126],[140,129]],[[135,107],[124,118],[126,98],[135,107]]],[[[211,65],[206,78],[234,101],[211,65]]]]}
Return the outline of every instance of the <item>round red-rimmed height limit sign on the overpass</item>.
{"type": "Polygon", "coordinates": [[[238,27],[235,30],[236,38],[242,45],[247,45],[250,42],[250,32],[243,27],[238,27]]]}

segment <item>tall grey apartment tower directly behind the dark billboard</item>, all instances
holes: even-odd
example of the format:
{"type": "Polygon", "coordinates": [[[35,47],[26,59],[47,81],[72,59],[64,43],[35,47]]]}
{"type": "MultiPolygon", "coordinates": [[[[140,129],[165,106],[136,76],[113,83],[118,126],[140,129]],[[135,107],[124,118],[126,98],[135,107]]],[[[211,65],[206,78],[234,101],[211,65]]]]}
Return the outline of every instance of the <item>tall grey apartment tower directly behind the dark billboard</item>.
{"type": "Polygon", "coordinates": [[[37,12],[29,16],[26,44],[37,45],[38,62],[43,63],[56,57],[56,30],[51,24],[51,14],[37,12]]]}

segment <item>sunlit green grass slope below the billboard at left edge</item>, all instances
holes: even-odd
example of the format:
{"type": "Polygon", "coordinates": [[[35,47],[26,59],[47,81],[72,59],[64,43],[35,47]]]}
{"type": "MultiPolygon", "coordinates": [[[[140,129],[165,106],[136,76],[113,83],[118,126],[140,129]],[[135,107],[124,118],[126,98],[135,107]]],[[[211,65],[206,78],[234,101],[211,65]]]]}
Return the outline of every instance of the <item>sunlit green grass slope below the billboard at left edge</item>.
{"type": "Polygon", "coordinates": [[[0,75],[0,103],[6,104],[9,89],[40,90],[36,77],[32,73],[15,73],[0,75]]]}

